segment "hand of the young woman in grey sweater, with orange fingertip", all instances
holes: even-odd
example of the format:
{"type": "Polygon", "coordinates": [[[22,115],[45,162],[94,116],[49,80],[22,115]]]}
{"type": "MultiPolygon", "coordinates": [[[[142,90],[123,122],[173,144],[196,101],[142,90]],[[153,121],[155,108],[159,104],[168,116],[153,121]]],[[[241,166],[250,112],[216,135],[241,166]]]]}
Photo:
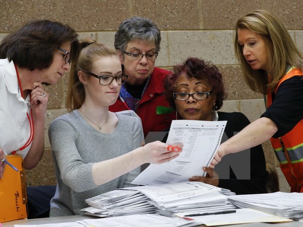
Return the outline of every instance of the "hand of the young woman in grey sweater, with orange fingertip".
{"type": "Polygon", "coordinates": [[[178,157],[182,147],[182,144],[172,147],[160,141],[155,141],[142,147],[142,157],[145,163],[161,164],[178,157]]]}

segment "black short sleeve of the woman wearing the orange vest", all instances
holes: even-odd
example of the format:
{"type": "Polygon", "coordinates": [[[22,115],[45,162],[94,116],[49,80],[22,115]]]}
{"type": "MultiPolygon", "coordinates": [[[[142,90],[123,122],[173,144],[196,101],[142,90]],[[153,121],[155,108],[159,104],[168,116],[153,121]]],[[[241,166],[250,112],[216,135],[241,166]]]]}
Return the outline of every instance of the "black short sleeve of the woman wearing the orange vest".
{"type": "Polygon", "coordinates": [[[272,104],[261,117],[271,119],[278,127],[274,138],[284,136],[303,119],[303,80],[294,76],[283,81],[276,95],[272,94],[272,104]]]}

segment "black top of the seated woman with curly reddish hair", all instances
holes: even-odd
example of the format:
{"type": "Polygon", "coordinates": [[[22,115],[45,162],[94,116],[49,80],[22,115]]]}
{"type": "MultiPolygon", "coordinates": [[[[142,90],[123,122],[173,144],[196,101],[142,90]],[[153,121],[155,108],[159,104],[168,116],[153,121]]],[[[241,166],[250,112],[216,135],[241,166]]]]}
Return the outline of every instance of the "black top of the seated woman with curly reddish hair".
{"type": "MultiPolygon", "coordinates": [[[[218,116],[218,121],[227,121],[221,143],[250,124],[240,112],[218,112],[218,116]]],[[[162,142],[166,142],[167,137],[168,134],[162,142]]],[[[214,170],[219,175],[220,188],[229,189],[237,195],[267,193],[268,172],[261,145],[224,156],[214,170]]]]}

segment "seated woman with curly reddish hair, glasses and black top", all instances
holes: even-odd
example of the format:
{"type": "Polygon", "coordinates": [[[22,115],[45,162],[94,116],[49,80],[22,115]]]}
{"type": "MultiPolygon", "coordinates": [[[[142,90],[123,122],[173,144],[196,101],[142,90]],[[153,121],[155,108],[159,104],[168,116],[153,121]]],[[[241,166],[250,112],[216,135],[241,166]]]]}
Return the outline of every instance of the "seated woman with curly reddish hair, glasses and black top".
{"type": "MultiPolygon", "coordinates": [[[[249,124],[243,113],[216,111],[227,94],[222,75],[212,63],[188,58],[174,67],[174,72],[165,78],[164,87],[167,100],[176,110],[176,119],[227,121],[222,142],[249,124]]],[[[230,189],[236,194],[267,193],[268,173],[261,145],[228,155],[215,169],[201,167],[207,176],[193,176],[189,181],[230,189]]]]}

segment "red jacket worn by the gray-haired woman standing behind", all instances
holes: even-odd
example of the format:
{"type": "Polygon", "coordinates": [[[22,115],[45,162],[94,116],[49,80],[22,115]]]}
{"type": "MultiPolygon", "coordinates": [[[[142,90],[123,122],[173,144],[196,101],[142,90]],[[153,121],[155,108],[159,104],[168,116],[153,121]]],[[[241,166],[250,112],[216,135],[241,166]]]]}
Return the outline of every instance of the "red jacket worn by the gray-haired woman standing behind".
{"type": "MultiPolygon", "coordinates": [[[[161,113],[161,106],[170,107],[168,101],[163,95],[163,79],[170,72],[160,68],[154,68],[151,74],[147,88],[135,111],[140,117],[143,125],[144,137],[148,132],[161,132],[168,129],[172,120],[175,119],[175,111],[171,109],[169,113],[161,113]],[[158,106],[158,113],[157,113],[158,106]]],[[[172,94],[173,95],[173,94],[172,94]]],[[[168,108],[165,108],[168,110],[168,108]]],[[[121,99],[118,97],[115,104],[110,106],[110,111],[117,112],[127,110],[121,99]]]]}

